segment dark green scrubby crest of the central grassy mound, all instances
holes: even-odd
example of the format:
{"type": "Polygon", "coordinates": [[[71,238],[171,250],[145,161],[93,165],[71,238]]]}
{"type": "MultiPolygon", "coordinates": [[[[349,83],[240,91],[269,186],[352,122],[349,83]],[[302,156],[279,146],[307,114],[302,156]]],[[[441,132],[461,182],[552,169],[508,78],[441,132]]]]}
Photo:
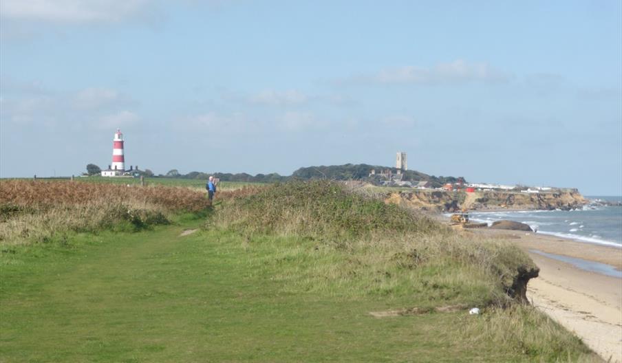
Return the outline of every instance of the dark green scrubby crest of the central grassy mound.
{"type": "Polygon", "coordinates": [[[273,184],[233,199],[213,221],[233,230],[356,239],[371,232],[440,232],[424,214],[365,197],[335,181],[273,184]]]}

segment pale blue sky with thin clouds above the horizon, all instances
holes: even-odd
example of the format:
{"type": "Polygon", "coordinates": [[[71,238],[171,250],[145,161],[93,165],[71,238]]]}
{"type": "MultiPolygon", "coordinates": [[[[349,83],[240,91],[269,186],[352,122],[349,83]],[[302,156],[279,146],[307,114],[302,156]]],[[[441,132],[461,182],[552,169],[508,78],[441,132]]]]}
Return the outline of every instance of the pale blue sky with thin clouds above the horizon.
{"type": "Polygon", "coordinates": [[[622,2],[2,0],[0,177],[408,166],[622,195],[622,2]]]}

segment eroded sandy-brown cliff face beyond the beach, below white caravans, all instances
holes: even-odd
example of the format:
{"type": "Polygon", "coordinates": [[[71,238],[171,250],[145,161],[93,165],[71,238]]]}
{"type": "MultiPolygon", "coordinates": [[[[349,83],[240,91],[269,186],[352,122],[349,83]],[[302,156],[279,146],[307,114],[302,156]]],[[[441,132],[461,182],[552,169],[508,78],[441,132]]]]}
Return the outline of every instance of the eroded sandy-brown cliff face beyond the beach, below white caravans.
{"type": "Polygon", "coordinates": [[[559,192],[448,192],[444,190],[413,190],[392,192],[387,203],[436,211],[513,209],[513,210],[570,210],[581,208],[588,200],[576,190],[559,192]]]}

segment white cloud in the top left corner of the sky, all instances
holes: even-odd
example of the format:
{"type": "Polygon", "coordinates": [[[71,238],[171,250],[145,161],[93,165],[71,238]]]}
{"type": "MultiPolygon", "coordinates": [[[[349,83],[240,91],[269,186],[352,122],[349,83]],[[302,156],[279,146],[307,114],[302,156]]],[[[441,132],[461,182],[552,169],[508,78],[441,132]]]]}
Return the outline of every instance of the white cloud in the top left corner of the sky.
{"type": "Polygon", "coordinates": [[[132,17],[151,0],[2,0],[0,17],[50,23],[105,23],[132,17]]]}

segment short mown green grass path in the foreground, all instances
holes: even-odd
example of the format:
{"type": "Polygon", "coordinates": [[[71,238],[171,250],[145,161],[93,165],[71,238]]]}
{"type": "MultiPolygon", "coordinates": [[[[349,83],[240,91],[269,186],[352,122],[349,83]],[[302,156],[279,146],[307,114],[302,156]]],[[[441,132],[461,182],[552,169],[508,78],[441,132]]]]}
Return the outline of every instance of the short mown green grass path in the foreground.
{"type": "MultiPolygon", "coordinates": [[[[187,223],[186,223],[187,224],[187,223]]],[[[523,360],[455,340],[464,313],[288,288],[265,250],[184,226],[3,250],[1,362],[472,362],[523,360]],[[265,257],[265,256],[264,256],[265,257]],[[397,306],[396,306],[397,305],[397,306]]],[[[287,261],[285,262],[287,263],[287,261]]]]}

